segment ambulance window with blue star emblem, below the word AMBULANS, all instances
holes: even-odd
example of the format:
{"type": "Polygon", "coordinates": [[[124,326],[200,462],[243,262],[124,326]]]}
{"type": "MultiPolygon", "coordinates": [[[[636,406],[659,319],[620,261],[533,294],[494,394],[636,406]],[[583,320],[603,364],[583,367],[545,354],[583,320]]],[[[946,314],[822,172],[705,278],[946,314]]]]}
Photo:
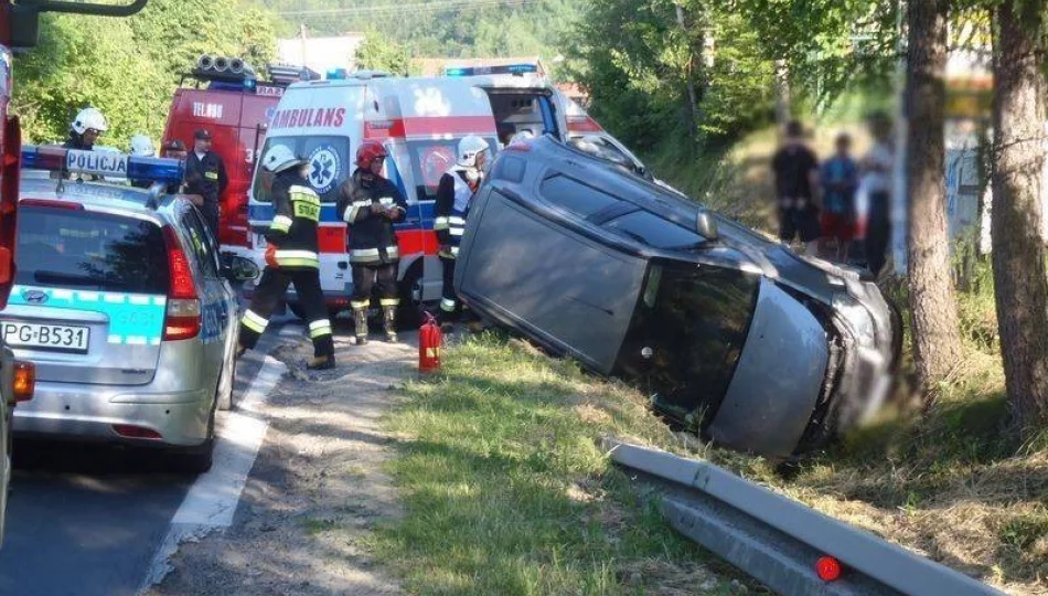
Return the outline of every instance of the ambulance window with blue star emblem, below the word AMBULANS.
{"type": "MultiPolygon", "coordinates": [[[[334,136],[270,137],[266,139],[259,156],[265,156],[272,147],[282,145],[292,153],[309,161],[306,180],[320,200],[333,203],[339,200],[339,185],[353,173],[353,160],[350,159],[350,139],[334,136]]],[[[259,203],[271,203],[272,196],[265,177],[271,177],[265,168],[255,168],[253,196],[259,203]]]]}

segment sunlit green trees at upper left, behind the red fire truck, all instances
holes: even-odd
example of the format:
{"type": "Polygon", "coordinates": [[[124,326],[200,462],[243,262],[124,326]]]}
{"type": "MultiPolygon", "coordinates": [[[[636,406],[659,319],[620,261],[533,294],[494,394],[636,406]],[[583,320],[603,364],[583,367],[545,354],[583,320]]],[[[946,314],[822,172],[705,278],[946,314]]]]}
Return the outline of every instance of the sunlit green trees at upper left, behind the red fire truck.
{"type": "Polygon", "coordinates": [[[150,0],[127,19],[47,14],[39,45],[17,57],[13,111],[28,141],[52,142],[95,106],[110,126],[99,142],[124,148],[135,132],[159,139],[172,93],[200,54],[261,66],[275,46],[270,15],[239,0],[150,0]]]}

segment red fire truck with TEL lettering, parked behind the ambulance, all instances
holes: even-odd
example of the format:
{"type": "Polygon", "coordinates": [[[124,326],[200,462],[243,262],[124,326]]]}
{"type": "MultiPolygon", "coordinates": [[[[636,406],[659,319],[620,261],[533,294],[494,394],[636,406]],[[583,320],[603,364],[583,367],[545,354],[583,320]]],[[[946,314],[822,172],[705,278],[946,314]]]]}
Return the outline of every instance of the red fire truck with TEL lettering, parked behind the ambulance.
{"type": "Polygon", "coordinates": [[[259,81],[250,64],[237,57],[202,55],[174,92],[163,142],[181,140],[192,151],[193,134],[206,128],[222,158],[229,185],[220,200],[218,244],[240,253],[248,247],[247,191],[269,118],[285,88],[319,78],[311,71],[270,64],[269,81],[259,81]],[[190,79],[192,85],[186,85],[190,79]]]}

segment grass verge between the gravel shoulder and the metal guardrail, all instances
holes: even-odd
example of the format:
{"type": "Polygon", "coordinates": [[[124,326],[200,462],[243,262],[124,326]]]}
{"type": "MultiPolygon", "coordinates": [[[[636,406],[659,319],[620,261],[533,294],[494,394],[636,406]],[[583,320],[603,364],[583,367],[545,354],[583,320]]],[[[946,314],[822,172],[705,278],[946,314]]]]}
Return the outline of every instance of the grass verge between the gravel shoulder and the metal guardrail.
{"type": "Polygon", "coordinates": [[[373,549],[419,594],[731,594],[597,447],[677,439],[638,394],[495,334],[447,350],[389,417],[405,517],[373,549]]]}

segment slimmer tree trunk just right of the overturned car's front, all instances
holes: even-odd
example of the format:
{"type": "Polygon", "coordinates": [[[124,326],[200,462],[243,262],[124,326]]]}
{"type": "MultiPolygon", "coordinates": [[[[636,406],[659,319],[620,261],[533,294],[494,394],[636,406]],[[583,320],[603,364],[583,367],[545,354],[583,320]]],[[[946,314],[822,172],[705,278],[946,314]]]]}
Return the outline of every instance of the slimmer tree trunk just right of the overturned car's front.
{"type": "Polygon", "coordinates": [[[909,287],[917,372],[930,394],[961,361],[944,180],[948,0],[908,4],[909,287]]]}

